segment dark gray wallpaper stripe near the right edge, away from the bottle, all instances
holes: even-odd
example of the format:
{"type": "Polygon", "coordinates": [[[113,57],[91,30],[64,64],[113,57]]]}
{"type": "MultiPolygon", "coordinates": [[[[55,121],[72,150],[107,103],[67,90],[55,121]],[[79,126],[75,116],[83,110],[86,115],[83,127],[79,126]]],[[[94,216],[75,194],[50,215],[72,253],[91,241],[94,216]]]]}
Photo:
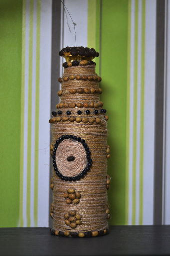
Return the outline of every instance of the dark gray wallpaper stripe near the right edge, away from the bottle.
{"type": "Polygon", "coordinates": [[[163,92],[164,92],[164,19],[165,1],[156,2],[156,76],[154,135],[154,209],[153,224],[162,224],[163,175],[163,92]]]}

